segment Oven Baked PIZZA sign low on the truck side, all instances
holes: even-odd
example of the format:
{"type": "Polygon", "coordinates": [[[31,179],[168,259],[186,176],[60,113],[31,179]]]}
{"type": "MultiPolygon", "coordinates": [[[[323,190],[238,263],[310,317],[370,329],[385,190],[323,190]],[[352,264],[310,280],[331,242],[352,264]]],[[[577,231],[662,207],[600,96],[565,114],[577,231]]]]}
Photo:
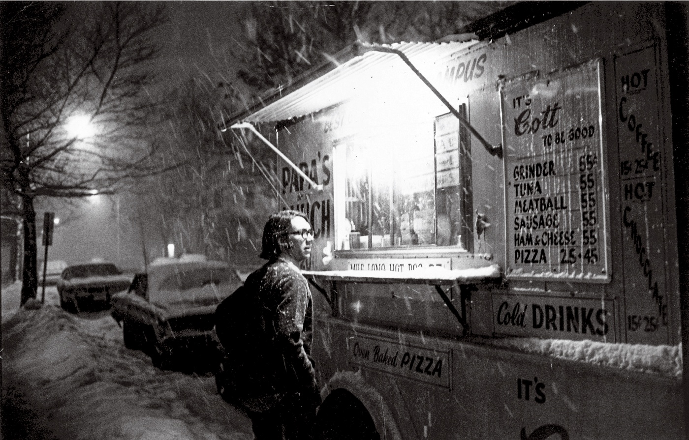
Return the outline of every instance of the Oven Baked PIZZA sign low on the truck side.
{"type": "Polygon", "coordinates": [[[451,389],[449,349],[433,350],[361,334],[348,341],[351,364],[451,389]]]}

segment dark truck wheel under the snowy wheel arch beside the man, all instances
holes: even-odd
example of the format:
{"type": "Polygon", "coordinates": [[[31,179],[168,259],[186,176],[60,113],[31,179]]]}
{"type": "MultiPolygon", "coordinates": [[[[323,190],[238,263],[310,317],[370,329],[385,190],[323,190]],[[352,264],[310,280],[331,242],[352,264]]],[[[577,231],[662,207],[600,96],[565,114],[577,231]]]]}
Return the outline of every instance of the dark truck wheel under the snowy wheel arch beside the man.
{"type": "Polygon", "coordinates": [[[362,404],[347,390],[333,390],[316,416],[314,439],[380,440],[376,425],[362,404]]]}

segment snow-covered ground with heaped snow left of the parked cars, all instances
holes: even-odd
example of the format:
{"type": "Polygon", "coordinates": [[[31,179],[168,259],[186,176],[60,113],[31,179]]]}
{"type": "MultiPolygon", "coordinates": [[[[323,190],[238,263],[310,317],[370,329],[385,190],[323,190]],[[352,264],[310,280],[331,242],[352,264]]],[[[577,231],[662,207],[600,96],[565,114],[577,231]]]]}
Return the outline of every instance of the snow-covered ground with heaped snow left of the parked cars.
{"type": "MultiPolygon", "coordinates": [[[[3,288],[3,305],[14,288],[3,288]]],[[[158,370],[124,347],[107,311],[74,315],[56,302],[52,287],[40,308],[3,310],[3,416],[25,415],[32,438],[253,437],[249,420],[216,395],[212,375],[158,370]]],[[[25,438],[17,423],[5,421],[17,432],[4,438],[25,438]]]]}

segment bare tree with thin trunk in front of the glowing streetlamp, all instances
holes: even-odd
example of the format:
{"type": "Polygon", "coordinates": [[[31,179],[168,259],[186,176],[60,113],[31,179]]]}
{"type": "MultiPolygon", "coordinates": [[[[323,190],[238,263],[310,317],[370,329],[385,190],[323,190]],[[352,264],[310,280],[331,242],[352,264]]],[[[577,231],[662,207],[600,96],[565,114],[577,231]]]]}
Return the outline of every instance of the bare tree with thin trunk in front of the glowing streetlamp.
{"type": "Polygon", "coordinates": [[[21,202],[24,304],[37,290],[35,198],[113,192],[150,172],[149,37],[166,17],[159,3],[3,2],[0,19],[0,175],[21,202]]]}

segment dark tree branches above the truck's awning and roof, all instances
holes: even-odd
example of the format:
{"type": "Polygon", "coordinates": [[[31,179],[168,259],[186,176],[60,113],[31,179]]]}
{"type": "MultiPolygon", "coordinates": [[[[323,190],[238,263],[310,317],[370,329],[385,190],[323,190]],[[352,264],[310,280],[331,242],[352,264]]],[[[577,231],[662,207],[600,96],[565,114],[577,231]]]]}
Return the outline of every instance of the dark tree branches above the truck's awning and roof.
{"type": "MultiPolygon", "coordinates": [[[[234,54],[253,92],[288,85],[355,41],[435,41],[510,1],[262,1],[234,54]]],[[[238,86],[241,87],[241,86],[238,86]]],[[[240,88],[243,92],[246,89],[240,88]]],[[[246,93],[245,93],[246,94],[246,93]]],[[[247,98],[247,96],[245,96],[247,98]]],[[[245,100],[248,101],[248,100],[245,100]]]]}

